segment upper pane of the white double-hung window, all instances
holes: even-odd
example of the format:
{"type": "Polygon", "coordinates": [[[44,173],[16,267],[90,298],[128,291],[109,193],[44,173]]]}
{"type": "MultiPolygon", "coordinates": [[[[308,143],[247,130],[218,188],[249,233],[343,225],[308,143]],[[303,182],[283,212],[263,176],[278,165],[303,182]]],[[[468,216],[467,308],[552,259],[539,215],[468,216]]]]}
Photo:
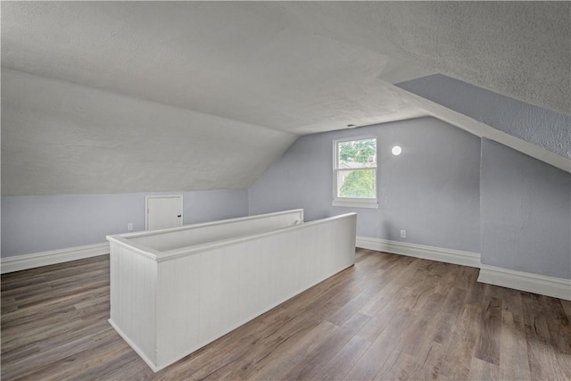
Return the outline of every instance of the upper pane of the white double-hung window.
{"type": "Polygon", "coordinates": [[[337,168],[339,170],[377,167],[376,138],[339,142],[337,149],[337,168]]]}

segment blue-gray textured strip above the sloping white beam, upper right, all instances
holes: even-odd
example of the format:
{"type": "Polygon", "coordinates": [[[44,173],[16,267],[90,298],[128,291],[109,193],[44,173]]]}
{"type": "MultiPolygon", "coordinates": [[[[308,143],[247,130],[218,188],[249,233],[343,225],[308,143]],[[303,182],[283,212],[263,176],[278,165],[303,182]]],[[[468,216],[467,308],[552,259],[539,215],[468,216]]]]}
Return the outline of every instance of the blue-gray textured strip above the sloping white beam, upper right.
{"type": "Polygon", "coordinates": [[[571,157],[571,117],[435,74],[397,85],[514,137],[571,157]]]}

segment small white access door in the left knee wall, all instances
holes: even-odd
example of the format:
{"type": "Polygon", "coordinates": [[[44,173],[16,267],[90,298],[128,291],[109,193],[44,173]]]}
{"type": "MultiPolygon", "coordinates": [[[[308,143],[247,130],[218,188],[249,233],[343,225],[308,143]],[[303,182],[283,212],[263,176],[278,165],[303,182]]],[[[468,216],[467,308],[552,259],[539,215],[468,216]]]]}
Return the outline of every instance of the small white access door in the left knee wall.
{"type": "Polygon", "coordinates": [[[148,195],[145,204],[146,230],[182,226],[182,195],[148,195]]]}

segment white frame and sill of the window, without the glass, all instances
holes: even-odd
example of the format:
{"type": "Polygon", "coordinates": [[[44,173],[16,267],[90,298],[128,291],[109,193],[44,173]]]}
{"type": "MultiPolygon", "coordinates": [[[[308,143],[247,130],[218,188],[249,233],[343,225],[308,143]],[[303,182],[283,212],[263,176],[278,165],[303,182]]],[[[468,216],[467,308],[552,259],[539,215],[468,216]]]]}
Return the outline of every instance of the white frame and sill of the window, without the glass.
{"type": "MultiPolygon", "coordinates": [[[[360,137],[339,137],[333,139],[333,206],[356,207],[356,208],[373,208],[378,209],[378,137],[376,135],[365,135],[360,137]],[[341,197],[337,195],[337,178],[340,168],[337,167],[339,163],[339,144],[344,142],[354,142],[359,140],[375,139],[375,150],[377,157],[377,165],[375,166],[375,197],[374,198],[355,198],[355,197],[341,197]]],[[[367,168],[362,170],[373,170],[367,168]]]]}

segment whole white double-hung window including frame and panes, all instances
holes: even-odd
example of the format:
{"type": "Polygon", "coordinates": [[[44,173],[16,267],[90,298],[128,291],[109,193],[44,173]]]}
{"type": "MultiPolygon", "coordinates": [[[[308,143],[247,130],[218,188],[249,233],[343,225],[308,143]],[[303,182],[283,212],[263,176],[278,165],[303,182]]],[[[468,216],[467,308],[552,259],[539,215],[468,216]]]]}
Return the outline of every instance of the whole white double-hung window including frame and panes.
{"type": "Polygon", "coordinates": [[[377,137],[333,141],[333,205],[378,208],[377,137]]]}

